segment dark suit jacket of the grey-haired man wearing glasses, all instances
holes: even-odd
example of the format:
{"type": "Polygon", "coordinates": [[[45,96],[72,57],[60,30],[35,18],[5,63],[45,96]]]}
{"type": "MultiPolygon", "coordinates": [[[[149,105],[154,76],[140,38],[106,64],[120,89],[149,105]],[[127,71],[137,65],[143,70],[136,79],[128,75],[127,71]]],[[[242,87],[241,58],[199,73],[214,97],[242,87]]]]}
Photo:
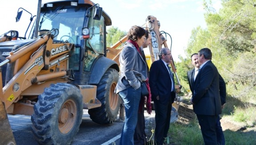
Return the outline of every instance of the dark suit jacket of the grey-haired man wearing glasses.
{"type": "MultiPolygon", "coordinates": [[[[156,96],[159,96],[161,103],[174,102],[175,91],[172,90],[172,80],[164,62],[159,59],[152,63],[149,71],[149,86],[152,94],[152,100],[156,101],[156,96]]],[[[175,87],[175,86],[173,86],[175,87]]]]}

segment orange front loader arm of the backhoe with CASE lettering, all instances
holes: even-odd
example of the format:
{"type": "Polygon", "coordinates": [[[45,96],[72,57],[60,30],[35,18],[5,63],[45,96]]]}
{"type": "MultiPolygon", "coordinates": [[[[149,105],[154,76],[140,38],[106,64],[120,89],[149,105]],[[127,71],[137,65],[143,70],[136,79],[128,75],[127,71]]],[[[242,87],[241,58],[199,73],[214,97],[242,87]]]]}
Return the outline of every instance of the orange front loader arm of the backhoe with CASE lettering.
{"type": "MultiPolygon", "coordinates": [[[[35,39],[28,45],[10,52],[6,60],[0,63],[2,67],[7,63],[15,62],[12,79],[4,87],[3,82],[0,81],[0,87],[3,88],[0,89],[0,94],[6,109],[13,102],[20,100],[20,94],[32,84],[66,75],[66,71],[39,74],[41,70],[48,70],[55,58],[59,58],[58,62],[63,58],[67,59],[68,52],[74,47],[72,43],[52,43],[52,38],[53,35],[48,34],[35,39]]],[[[12,113],[11,110],[8,109],[8,113],[12,113]]]]}

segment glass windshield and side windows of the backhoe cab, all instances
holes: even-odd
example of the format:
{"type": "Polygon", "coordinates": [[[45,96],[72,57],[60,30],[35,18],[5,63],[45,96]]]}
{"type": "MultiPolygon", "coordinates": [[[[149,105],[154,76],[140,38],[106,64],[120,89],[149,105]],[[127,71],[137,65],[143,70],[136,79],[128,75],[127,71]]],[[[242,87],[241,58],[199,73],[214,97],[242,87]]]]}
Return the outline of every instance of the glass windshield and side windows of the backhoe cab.
{"type": "Polygon", "coordinates": [[[104,54],[104,17],[94,20],[96,8],[95,6],[89,8],[89,16],[86,16],[88,7],[82,6],[62,5],[58,8],[42,8],[40,13],[38,37],[55,29],[57,31],[52,31],[55,41],[74,43],[76,48],[69,58],[69,68],[75,71],[80,68],[90,71],[97,56],[104,54]],[[88,23],[88,26],[84,26],[85,23],[88,23]],[[84,27],[89,28],[90,38],[88,39],[82,37],[82,28],[84,27]],[[81,61],[82,59],[83,61],[81,61]]]}

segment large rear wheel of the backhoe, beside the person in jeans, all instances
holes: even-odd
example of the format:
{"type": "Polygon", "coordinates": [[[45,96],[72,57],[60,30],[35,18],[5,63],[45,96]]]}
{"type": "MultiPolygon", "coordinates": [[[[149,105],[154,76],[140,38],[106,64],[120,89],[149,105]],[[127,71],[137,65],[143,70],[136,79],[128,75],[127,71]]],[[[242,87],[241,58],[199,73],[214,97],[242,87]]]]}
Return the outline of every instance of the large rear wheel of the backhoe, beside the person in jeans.
{"type": "Polygon", "coordinates": [[[88,110],[92,121],[99,124],[111,124],[116,120],[120,109],[121,98],[114,93],[119,74],[115,69],[109,68],[97,86],[97,99],[101,106],[88,110]]]}

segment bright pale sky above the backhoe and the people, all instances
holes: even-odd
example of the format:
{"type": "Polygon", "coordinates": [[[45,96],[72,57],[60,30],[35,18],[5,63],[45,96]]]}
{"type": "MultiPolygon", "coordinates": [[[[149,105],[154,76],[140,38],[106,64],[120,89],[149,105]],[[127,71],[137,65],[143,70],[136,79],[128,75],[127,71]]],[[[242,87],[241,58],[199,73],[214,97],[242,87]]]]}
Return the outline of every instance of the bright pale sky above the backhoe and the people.
{"type": "MultiPolygon", "coordinates": [[[[48,1],[51,0],[42,0],[42,3],[48,1]]],[[[198,26],[206,28],[203,0],[92,0],[92,2],[99,4],[110,16],[112,26],[118,27],[121,31],[127,32],[133,25],[142,26],[146,23],[147,16],[156,17],[160,22],[160,31],[165,31],[172,37],[172,39],[170,37],[166,39],[169,48],[172,42],[171,51],[174,61],[179,61],[179,55],[186,57],[184,50],[192,29],[198,26]]],[[[212,4],[218,10],[221,1],[212,0],[212,4]]],[[[16,22],[18,8],[24,8],[35,16],[37,5],[38,0],[2,1],[0,35],[9,30],[16,30],[19,31],[19,36],[24,36],[31,15],[23,12],[20,21],[16,22]]]]}

